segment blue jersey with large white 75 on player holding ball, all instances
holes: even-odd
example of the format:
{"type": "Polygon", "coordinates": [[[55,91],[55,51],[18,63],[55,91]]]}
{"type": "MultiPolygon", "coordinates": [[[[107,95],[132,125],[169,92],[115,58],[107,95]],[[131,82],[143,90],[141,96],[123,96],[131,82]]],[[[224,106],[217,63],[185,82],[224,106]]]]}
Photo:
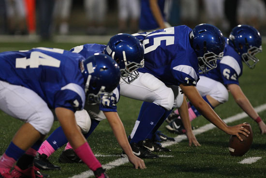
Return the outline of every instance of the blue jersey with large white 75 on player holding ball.
{"type": "Polygon", "coordinates": [[[145,66],[139,72],[150,73],[167,85],[199,80],[198,59],[189,41],[191,28],[182,25],[148,33],[133,34],[144,46],[145,66]]]}

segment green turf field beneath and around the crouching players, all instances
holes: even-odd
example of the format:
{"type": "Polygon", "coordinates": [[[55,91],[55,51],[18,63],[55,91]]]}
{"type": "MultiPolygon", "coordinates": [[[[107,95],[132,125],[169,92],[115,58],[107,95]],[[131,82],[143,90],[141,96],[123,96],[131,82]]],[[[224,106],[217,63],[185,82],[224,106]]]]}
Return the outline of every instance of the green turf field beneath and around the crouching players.
{"type": "MultiPolygon", "coordinates": [[[[22,50],[32,47],[50,47],[71,49],[81,44],[59,44],[59,43],[0,43],[0,52],[5,50],[22,50]]],[[[263,46],[266,49],[266,45],[263,46]]],[[[244,65],[244,72],[240,78],[240,86],[246,96],[250,99],[254,107],[266,103],[266,52],[257,55],[260,62],[256,68],[251,70],[244,65]]],[[[118,114],[124,123],[127,134],[137,119],[142,102],[121,97],[118,103],[118,114]]],[[[229,95],[229,101],[215,111],[225,119],[242,110],[229,95]]],[[[266,111],[259,113],[266,122],[266,111]]],[[[253,129],[253,144],[248,153],[243,157],[232,157],[228,151],[229,135],[219,129],[210,129],[207,132],[196,135],[201,147],[189,147],[188,141],[184,140],[178,144],[169,146],[172,152],[158,153],[164,157],[154,160],[145,159],[146,170],[135,170],[131,163],[115,166],[106,172],[110,178],[264,178],[266,177],[266,135],[260,135],[257,124],[250,118],[229,123],[236,125],[249,122],[253,129]],[[251,164],[240,164],[238,162],[249,157],[261,157],[260,160],[251,164]]],[[[192,121],[192,126],[196,129],[209,122],[200,117],[192,121]]],[[[22,125],[18,121],[5,113],[0,112],[0,155],[2,155],[12,140],[16,130],[22,125]]],[[[176,134],[169,133],[165,129],[166,123],[160,130],[168,136],[176,137],[176,134]]],[[[51,132],[59,126],[55,122],[51,132]]],[[[108,122],[102,121],[88,139],[93,152],[99,155],[97,158],[105,165],[120,159],[122,150],[118,146],[116,139],[109,127],[108,122]],[[103,157],[103,155],[107,155],[103,157]]],[[[61,166],[60,171],[43,171],[50,175],[50,178],[69,178],[79,175],[89,169],[85,164],[61,164],[58,162],[59,154],[63,148],[56,151],[50,161],[61,166]]],[[[110,165],[110,164],[108,164],[110,165]]],[[[75,178],[87,178],[76,176],[75,178]]]]}

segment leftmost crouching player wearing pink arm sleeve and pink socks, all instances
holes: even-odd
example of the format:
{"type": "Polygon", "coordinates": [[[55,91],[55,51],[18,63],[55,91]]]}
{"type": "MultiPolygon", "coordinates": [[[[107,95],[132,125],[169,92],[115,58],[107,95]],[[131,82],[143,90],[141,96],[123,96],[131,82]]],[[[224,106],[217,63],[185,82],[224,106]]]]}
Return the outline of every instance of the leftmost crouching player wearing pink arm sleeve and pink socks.
{"type": "Polygon", "coordinates": [[[52,127],[50,109],[75,153],[97,178],[108,177],[78,130],[74,112],[83,109],[86,97],[99,101],[111,95],[120,80],[118,64],[103,54],[85,59],[50,48],[2,52],[0,64],[0,109],[26,122],[0,158],[0,177],[44,177],[35,171],[33,159],[52,127]]]}

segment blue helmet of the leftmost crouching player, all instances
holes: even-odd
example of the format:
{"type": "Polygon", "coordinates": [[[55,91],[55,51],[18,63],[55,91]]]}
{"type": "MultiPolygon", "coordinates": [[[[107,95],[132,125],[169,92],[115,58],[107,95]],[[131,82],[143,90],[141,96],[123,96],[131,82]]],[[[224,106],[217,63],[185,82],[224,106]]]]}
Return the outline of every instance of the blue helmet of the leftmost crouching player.
{"type": "Polygon", "coordinates": [[[120,81],[120,70],[110,56],[95,53],[82,61],[80,68],[85,79],[85,93],[89,104],[101,103],[103,96],[112,96],[112,91],[120,81]]]}

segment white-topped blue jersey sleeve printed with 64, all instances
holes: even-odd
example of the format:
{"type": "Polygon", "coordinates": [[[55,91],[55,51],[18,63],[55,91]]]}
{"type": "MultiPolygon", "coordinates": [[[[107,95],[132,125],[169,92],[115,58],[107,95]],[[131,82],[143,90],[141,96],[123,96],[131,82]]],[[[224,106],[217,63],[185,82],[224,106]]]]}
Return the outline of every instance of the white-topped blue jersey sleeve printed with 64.
{"type": "Polygon", "coordinates": [[[220,72],[224,85],[237,84],[239,85],[239,75],[241,72],[240,66],[231,56],[224,56],[220,62],[220,72]]]}

